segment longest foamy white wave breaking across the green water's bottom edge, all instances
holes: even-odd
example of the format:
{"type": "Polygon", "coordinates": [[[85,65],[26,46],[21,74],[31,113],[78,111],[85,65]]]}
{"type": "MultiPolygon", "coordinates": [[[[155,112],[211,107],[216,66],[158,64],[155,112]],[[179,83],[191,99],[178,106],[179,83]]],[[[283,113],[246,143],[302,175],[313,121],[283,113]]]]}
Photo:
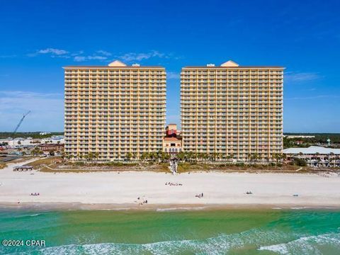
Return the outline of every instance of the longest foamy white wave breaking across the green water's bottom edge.
{"type": "MultiPolygon", "coordinates": [[[[250,229],[236,234],[220,234],[207,239],[174,240],[149,244],[69,244],[52,246],[22,254],[225,254],[232,249],[256,249],[256,245],[292,238],[284,232],[250,229]]],[[[257,245],[258,246],[258,245],[257,245]]]]}

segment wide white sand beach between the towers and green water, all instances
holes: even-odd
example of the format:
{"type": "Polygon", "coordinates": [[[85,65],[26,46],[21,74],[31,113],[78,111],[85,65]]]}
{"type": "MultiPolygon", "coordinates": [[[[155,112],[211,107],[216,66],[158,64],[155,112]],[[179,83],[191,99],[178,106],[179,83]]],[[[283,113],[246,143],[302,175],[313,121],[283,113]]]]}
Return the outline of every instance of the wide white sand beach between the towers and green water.
{"type": "MultiPolygon", "coordinates": [[[[24,162],[28,163],[28,162],[24,162]]],[[[21,163],[23,164],[23,163],[21,163]]],[[[155,172],[44,173],[0,170],[0,204],[81,203],[147,205],[265,205],[272,207],[340,207],[340,177],[317,174],[242,174],[155,172]],[[167,182],[182,186],[165,185],[167,182]],[[253,194],[246,195],[246,191],[253,194]],[[30,196],[40,193],[40,196],[30,196]],[[203,193],[203,198],[196,194],[203,193]],[[293,196],[298,194],[298,196],[293,196]]],[[[102,208],[106,208],[103,206],[102,208]]]]}

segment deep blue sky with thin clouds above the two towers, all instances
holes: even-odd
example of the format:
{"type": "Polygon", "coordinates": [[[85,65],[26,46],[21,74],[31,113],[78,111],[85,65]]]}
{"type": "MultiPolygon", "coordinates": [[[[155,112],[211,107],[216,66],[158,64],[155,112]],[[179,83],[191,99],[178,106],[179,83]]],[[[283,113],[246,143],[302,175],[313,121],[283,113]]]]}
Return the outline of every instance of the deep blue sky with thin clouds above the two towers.
{"type": "Polygon", "coordinates": [[[0,131],[63,130],[63,66],[162,65],[179,123],[186,65],[286,67],[284,132],[340,132],[339,1],[1,1],[0,131]]]}

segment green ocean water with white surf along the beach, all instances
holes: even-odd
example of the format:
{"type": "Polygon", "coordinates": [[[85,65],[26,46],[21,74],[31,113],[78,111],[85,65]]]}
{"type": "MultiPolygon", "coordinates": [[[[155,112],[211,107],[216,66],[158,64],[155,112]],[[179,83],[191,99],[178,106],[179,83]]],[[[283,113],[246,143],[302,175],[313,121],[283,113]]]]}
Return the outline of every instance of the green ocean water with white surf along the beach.
{"type": "Polygon", "coordinates": [[[339,210],[0,210],[0,254],[340,254],[339,210]]]}

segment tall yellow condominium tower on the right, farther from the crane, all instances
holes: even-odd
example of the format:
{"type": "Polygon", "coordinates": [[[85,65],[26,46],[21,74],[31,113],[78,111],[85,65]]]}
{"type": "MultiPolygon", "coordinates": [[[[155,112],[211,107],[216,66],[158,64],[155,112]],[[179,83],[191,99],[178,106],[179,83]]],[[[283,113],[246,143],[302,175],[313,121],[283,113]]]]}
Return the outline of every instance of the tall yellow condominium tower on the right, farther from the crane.
{"type": "Polygon", "coordinates": [[[271,160],[283,149],[282,114],[283,67],[242,67],[228,61],[181,70],[186,152],[271,160]]]}

